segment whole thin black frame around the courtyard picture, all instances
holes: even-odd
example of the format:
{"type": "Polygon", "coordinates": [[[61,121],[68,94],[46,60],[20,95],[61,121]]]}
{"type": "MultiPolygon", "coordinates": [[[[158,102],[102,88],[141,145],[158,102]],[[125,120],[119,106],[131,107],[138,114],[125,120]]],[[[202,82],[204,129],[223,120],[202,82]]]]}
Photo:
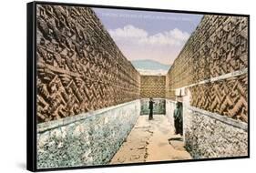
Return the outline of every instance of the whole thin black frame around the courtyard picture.
{"type": "Polygon", "coordinates": [[[250,15],[241,14],[226,14],[213,12],[198,12],[198,11],[183,11],[170,9],[153,9],[141,7],[128,6],[111,6],[111,5],[83,5],[73,3],[55,3],[55,2],[31,2],[27,3],[26,12],[26,36],[27,36],[27,60],[26,60],[26,168],[30,171],[50,171],[50,170],[69,170],[80,168],[108,168],[108,167],[123,167],[135,165],[148,164],[166,164],[166,163],[182,163],[182,162],[196,162],[196,161],[211,161],[223,159],[237,159],[250,158],[250,15]],[[97,165],[85,167],[71,167],[71,168],[36,168],[36,5],[72,5],[97,7],[108,9],[128,9],[149,12],[171,12],[179,14],[199,14],[199,15],[232,15],[242,16],[248,18],[248,155],[241,157],[227,157],[227,158],[195,158],[191,160],[169,160],[145,163],[126,163],[118,165],[97,165]]]}

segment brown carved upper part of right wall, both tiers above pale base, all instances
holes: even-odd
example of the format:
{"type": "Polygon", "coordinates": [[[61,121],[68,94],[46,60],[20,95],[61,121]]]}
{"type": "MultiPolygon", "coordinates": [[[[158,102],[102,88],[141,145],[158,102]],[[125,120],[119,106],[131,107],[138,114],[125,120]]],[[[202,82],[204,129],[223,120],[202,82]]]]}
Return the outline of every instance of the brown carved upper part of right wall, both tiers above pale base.
{"type": "Polygon", "coordinates": [[[175,99],[175,89],[196,84],[188,87],[192,106],[247,122],[247,73],[199,84],[247,67],[247,17],[204,15],[169,69],[166,96],[175,99]]]}

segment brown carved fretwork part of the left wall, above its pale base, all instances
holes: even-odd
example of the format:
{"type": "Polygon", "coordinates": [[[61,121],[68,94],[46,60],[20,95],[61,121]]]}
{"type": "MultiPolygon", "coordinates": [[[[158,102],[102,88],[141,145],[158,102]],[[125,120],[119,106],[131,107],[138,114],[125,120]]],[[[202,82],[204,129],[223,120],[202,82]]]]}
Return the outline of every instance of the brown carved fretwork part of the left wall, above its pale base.
{"type": "Polygon", "coordinates": [[[138,99],[138,71],[88,7],[36,6],[39,123],[138,99]]]}

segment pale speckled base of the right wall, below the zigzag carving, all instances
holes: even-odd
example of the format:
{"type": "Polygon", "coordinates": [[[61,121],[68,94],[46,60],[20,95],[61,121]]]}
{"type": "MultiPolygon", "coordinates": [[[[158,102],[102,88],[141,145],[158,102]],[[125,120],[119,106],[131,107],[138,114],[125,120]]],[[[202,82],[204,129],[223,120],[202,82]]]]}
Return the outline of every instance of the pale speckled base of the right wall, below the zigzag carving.
{"type": "Polygon", "coordinates": [[[193,158],[247,156],[247,123],[197,107],[184,107],[186,148],[193,158]]]}

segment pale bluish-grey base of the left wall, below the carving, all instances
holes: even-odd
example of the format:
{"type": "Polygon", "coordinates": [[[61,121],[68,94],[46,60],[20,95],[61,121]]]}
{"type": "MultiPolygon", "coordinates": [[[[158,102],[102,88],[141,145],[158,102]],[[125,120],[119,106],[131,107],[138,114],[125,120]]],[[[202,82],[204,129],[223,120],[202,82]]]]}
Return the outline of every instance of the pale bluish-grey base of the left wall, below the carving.
{"type": "Polygon", "coordinates": [[[140,101],[37,125],[37,168],[108,164],[139,116],[140,101]]]}

